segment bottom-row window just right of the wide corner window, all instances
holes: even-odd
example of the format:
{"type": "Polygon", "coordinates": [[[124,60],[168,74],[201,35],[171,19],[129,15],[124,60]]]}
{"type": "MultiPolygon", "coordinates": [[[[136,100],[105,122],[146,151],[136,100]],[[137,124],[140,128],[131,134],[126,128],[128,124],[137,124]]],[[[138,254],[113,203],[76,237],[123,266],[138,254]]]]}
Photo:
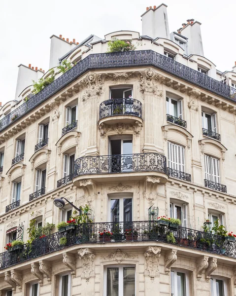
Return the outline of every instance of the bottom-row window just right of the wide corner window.
{"type": "Polygon", "coordinates": [[[188,276],[184,272],[171,270],[171,296],[188,296],[188,276]]]}

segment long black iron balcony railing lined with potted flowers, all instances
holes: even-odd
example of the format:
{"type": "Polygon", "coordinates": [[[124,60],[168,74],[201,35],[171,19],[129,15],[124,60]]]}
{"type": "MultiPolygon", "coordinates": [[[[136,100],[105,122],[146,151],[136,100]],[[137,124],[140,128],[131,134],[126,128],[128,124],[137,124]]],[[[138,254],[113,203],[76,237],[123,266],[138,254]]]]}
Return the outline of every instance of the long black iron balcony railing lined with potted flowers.
{"type": "Polygon", "coordinates": [[[153,221],[100,222],[79,224],[75,229],[56,232],[35,239],[31,245],[23,245],[21,250],[0,253],[0,269],[45,256],[73,245],[81,244],[115,244],[121,242],[122,244],[126,242],[143,244],[149,241],[158,241],[169,244],[171,248],[173,244],[168,242],[169,233],[173,234],[175,245],[191,248],[193,252],[198,250],[236,258],[235,242],[226,241],[223,236],[208,232],[181,226],[172,228],[159,225],[157,222],[153,221]],[[126,229],[131,229],[130,235],[126,235],[126,229]],[[104,233],[108,231],[112,234],[106,236],[104,233]],[[66,243],[64,245],[60,243],[62,237],[66,238],[66,243]]]}

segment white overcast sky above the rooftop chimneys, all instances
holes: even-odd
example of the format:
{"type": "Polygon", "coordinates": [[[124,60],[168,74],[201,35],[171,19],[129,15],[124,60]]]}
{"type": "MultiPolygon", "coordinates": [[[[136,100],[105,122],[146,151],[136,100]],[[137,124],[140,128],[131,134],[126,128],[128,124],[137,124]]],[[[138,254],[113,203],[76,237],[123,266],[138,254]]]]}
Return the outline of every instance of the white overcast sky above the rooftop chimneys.
{"type": "MultiPolygon", "coordinates": [[[[15,97],[18,65],[49,67],[50,36],[76,42],[90,34],[101,38],[119,31],[138,31],[140,15],[153,0],[2,0],[0,5],[0,102],[15,97]]],[[[204,55],[220,71],[232,71],[236,61],[236,0],[165,0],[169,31],[187,19],[202,23],[204,55]]]]}

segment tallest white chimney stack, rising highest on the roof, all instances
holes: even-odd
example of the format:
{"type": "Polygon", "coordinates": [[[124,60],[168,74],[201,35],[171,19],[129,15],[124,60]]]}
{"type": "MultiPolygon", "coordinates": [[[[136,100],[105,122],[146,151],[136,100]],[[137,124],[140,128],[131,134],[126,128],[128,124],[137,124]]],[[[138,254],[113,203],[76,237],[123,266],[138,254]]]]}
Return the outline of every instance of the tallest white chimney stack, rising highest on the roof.
{"type": "MultiPolygon", "coordinates": [[[[169,23],[167,15],[167,5],[162,3],[159,6],[149,7],[142,15],[142,35],[151,38],[169,39],[169,23]]],[[[148,7],[147,7],[148,8],[148,7]]]]}

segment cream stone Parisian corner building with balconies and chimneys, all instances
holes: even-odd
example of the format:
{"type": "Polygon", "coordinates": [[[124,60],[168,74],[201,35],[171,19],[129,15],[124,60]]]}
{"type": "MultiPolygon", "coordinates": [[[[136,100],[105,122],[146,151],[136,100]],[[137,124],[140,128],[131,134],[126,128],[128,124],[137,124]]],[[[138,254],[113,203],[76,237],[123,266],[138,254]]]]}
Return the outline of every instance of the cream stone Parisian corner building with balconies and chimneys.
{"type": "Polygon", "coordinates": [[[203,56],[197,21],[169,34],[166,8],[147,7],[142,36],[52,36],[55,80],[35,95],[50,72],[19,66],[0,110],[2,296],[236,295],[235,242],[202,228],[236,232],[236,66],[203,56]],[[135,51],[106,53],[112,37],[135,51]],[[76,64],[58,73],[58,59],[76,64]],[[92,223],[4,250],[32,219],[67,221],[70,203],[92,223]]]}

